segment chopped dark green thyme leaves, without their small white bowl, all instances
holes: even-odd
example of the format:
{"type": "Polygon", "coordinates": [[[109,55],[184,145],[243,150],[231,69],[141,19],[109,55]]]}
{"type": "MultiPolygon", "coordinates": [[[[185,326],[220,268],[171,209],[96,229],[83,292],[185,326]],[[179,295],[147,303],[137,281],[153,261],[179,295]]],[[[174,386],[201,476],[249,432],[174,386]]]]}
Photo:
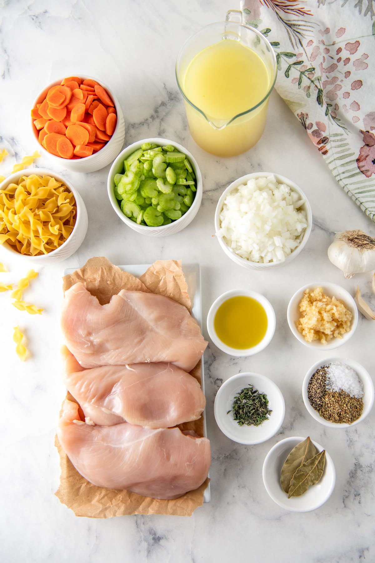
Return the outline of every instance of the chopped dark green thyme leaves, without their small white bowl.
{"type": "Polygon", "coordinates": [[[249,383],[249,387],[245,387],[237,393],[232,405],[232,409],[227,414],[233,412],[233,418],[239,426],[244,424],[247,426],[259,426],[265,420],[272,410],[268,408],[268,399],[265,393],[260,393],[254,389],[249,383]]]}

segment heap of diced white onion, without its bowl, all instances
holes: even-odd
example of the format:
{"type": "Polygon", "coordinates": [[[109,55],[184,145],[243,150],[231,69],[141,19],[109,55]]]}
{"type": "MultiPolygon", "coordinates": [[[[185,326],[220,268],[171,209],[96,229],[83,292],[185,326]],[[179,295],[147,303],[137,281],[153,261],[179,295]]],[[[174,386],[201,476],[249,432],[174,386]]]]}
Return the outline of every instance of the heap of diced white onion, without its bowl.
{"type": "Polygon", "coordinates": [[[304,200],[273,175],[252,178],[232,190],[216,236],[251,262],[283,262],[301,243],[308,221],[304,200]]]}

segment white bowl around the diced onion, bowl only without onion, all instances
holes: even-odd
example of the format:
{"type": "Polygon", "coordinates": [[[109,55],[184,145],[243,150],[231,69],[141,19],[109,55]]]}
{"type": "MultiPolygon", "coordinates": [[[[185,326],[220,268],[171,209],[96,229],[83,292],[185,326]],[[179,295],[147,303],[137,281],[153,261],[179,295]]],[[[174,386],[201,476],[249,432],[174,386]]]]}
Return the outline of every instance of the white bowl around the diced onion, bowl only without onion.
{"type": "MultiPolygon", "coordinates": [[[[266,221],[267,217],[259,216],[259,219],[266,221]]],[[[233,260],[233,262],[236,262],[236,264],[238,264],[239,266],[243,266],[251,270],[270,270],[278,266],[286,265],[288,262],[293,260],[293,258],[296,258],[296,256],[298,256],[298,254],[302,251],[302,248],[304,248],[305,244],[308,242],[312,223],[313,216],[311,213],[311,207],[304,192],[294,182],[288,180],[288,178],[280,176],[279,174],[274,174],[272,172],[254,172],[247,174],[246,176],[242,176],[241,178],[238,178],[238,180],[234,180],[234,182],[232,182],[232,184],[223,191],[223,194],[219,199],[215,211],[215,232],[223,251],[225,252],[225,254],[227,254],[227,256],[229,256],[229,258],[231,258],[231,260],[233,260]],[[305,227],[304,231],[302,231],[301,235],[296,239],[296,247],[290,254],[288,254],[288,256],[283,257],[281,260],[274,259],[269,262],[256,262],[247,258],[243,258],[230,247],[229,242],[225,240],[221,231],[222,220],[220,219],[220,215],[222,215],[224,203],[227,199],[227,196],[232,194],[233,192],[236,192],[238,190],[238,187],[246,185],[249,180],[259,180],[259,178],[270,178],[271,181],[275,180],[278,184],[285,184],[286,186],[290,187],[291,191],[295,192],[299,196],[298,199],[302,202],[298,210],[305,212],[307,226],[305,227]]]]}

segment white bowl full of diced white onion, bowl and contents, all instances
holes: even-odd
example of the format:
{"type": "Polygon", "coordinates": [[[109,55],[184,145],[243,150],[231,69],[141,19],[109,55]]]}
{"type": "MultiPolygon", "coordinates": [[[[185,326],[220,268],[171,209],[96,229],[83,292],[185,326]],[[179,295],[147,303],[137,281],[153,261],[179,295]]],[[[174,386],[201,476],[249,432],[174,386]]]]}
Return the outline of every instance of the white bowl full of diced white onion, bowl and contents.
{"type": "Polygon", "coordinates": [[[304,192],[272,172],[254,172],[232,182],[215,212],[215,232],[225,254],[254,270],[283,266],[298,256],[312,222],[304,192]]]}

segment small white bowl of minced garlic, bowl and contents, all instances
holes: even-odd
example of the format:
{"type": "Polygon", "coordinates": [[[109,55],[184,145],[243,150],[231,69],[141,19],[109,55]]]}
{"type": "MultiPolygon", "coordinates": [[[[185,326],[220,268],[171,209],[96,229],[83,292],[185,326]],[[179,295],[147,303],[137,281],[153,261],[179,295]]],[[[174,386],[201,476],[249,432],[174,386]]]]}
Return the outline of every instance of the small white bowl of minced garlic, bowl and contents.
{"type": "Polygon", "coordinates": [[[358,309],[353,297],[340,285],[313,282],[293,295],[287,319],[293,335],[302,344],[333,350],[353,336],[358,323],[358,309]]]}

